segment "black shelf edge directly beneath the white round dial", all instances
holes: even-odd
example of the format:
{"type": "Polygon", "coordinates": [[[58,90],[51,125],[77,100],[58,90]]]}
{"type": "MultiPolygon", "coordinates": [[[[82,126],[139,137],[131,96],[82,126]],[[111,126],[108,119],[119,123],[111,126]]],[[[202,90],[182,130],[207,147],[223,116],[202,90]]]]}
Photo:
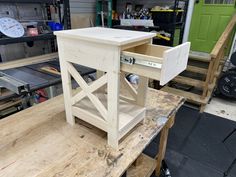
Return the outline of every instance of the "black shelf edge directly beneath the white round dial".
{"type": "Polygon", "coordinates": [[[0,45],[39,41],[39,40],[48,40],[48,39],[55,39],[55,38],[56,38],[56,36],[53,35],[53,33],[40,34],[38,36],[23,36],[23,37],[19,37],[19,38],[3,37],[3,38],[0,38],[0,45]]]}

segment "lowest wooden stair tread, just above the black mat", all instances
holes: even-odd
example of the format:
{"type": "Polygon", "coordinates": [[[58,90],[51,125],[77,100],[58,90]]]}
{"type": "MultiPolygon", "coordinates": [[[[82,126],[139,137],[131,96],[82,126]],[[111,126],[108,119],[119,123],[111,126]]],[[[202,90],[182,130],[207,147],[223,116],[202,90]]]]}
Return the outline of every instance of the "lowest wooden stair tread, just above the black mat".
{"type": "Polygon", "coordinates": [[[168,87],[168,86],[163,87],[161,90],[164,91],[164,92],[168,92],[168,93],[172,93],[172,94],[176,94],[176,95],[185,97],[186,99],[188,99],[190,101],[197,102],[197,103],[205,103],[205,104],[207,103],[206,99],[201,99],[201,95],[198,95],[198,94],[195,94],[195,93],[191,93],[191,92],[171,88],[171,87],[168,87]]]}

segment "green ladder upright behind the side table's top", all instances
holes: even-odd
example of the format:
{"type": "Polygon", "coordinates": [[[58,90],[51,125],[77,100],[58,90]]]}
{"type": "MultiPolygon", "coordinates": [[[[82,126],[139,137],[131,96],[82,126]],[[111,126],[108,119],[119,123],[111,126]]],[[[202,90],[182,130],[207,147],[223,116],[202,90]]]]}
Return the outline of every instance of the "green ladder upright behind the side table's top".
{"type": "Polygon", "coordinates": [[[96,26],[112,27],[112,0],[96,1],[96,26]]]}

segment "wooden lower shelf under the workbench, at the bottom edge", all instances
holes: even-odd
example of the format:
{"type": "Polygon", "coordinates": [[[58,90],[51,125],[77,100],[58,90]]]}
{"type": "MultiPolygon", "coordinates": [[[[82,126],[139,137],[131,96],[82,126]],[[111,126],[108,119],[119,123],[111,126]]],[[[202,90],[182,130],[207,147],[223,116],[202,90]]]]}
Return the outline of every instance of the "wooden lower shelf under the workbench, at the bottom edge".
{"type": "Polygon", "coordinates": [[[127,177],[150,177],[156,168],[156,160],[141,154],[137,159],[139,162],[137,165],[132,165],[127,170],[127,177]]]}

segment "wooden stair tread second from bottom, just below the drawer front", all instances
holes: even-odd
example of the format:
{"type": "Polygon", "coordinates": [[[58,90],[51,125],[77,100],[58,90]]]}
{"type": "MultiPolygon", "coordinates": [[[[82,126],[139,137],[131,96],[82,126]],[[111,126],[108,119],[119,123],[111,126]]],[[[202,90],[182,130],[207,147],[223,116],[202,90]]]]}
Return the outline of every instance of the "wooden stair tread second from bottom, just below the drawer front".
{"type": "Polygon", "coordinates": [[[204,81],[196,80],[196,79],[192,79],[190,77],[184,77],[184,76],[177,76],[173,79],[173,81],[181,83],[181,84],[194,86],[194,87],[200,88],[200,89],[203,89],[203,86],[205,84],[204,81]]]}

